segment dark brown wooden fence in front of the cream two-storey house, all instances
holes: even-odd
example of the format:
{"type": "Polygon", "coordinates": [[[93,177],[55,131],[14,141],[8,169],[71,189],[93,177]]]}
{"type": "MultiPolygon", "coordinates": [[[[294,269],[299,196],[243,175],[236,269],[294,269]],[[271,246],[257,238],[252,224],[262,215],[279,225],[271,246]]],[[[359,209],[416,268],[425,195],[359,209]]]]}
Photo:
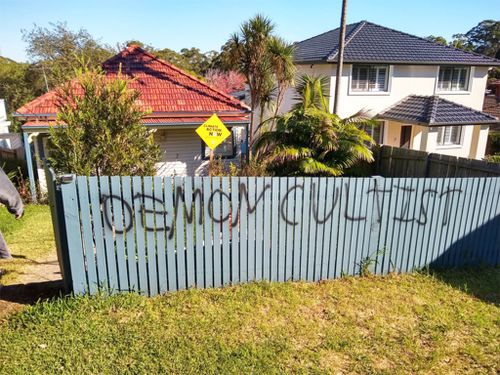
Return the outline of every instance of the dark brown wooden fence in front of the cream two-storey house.
{"type": "Polygon", "coordinates": [[[381,146],[375,151],[375,174],[384,177],[496,177],[500,164],[381,146]]]}

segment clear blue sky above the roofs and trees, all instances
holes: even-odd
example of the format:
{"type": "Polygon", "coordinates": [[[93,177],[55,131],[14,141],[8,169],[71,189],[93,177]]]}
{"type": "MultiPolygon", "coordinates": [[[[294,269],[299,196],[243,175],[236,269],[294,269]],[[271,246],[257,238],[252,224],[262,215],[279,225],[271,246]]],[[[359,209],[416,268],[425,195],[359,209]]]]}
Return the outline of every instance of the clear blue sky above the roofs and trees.
{"type": "MultiPolygon", "coordinates": [[[[270,17],[278,35],[300,41],[338,27],[341,0],[0,0],[0,56],[28,61],[21,30],[66,22],[113,47],[140,40],[156,48],[219,50],[241,23],[270,17]]],[[[484,19],[500,19],[500,0],[349,0],[348,23],[368,20],[446,39],[484,19]]]]}

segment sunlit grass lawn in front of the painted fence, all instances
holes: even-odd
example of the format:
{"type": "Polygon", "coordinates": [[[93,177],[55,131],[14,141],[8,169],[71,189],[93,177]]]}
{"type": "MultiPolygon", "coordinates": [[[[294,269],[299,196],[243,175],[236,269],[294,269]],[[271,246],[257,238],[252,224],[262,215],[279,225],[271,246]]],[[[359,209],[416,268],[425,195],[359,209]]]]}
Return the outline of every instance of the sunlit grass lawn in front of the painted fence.
{"type": "Polygon", "coordinates": [[[0,373],[495,374],[499,282],[497,268],[61,298],[0,325],[0,373]]]}

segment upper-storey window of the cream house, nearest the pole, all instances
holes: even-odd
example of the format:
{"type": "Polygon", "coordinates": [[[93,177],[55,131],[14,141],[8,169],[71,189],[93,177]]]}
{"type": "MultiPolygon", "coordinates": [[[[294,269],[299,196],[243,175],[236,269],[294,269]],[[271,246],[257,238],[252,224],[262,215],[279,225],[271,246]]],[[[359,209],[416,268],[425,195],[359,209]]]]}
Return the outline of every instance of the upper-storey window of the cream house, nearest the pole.
{"type": "Polygon", "coordinates": [[[388,65],[353,65],[351,91],[387,91],[389,81],[388,65]]]}

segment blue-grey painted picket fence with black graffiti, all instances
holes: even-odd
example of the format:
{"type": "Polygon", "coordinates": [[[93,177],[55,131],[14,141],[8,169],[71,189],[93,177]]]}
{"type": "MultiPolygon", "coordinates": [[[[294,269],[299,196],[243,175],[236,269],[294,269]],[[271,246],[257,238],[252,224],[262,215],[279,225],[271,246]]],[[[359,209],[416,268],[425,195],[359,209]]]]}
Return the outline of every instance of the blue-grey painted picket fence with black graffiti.
{"type": "Polygon", "coordinates": [[[75,293],[499,264],[500,178],[49,178],[75,293]]]}

